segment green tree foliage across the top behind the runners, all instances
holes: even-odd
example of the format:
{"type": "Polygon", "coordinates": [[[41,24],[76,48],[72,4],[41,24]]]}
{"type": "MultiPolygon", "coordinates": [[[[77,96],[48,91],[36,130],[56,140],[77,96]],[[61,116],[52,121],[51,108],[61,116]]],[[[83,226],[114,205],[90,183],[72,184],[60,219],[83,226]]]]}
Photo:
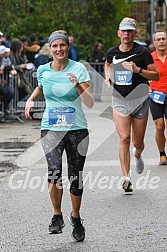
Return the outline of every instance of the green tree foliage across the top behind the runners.
{"type": "Polygon", "coordinates": [[[105,52],[118,42],[118,23],[128,15],[125,0],[1,0],[0,8],[0,30],[10,38],[37,33],[44,39],[64,29],[85,60],[96,41],[105,52]]]}

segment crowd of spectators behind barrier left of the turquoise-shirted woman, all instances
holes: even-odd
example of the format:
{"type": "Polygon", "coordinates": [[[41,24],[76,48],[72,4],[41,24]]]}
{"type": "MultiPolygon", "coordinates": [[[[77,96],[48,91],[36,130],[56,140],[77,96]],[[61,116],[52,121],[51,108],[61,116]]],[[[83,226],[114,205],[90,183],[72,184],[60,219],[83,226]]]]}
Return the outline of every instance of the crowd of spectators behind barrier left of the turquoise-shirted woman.
{"type": "MultiPolygon", "coordinates": [[[[45,44],[38,43],[36,34],[31,34],[28,37],[21,36],[8,40],[7,37],[0,31],[0,116],[9,115],[10,102],[15,97],[15,92],[18,94],[18,101],[32,93],[33,88],[28,78],[28,71],[36,68],[35,64],[39,55],[42,52],[45,44]],[[17,76],[17,88],[10,85],[11,77],[17,76]],[[3,111],[3,112],[2,112],[3,111]]],[[[47,59],[47,62],[51,57],[47,59]]],[[[38,60],[38,65],[46,63],[43,59],[38,60]]]]}

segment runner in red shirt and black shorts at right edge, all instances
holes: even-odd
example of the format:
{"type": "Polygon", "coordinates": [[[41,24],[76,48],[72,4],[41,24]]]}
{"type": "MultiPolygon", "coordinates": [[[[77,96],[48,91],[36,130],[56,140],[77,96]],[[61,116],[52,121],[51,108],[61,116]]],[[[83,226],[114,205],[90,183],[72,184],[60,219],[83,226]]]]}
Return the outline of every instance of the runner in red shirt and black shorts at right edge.
{"type": "Polygon", "coordinates": [[[155,139],[160,152],[159,165],[167,165],[165,152],[165,125],[167,125],[167,35],[158,31],[153,35],[154,63],[159,72],[159,81],[151,81],[150,110],[155,122],[155,139]]]}

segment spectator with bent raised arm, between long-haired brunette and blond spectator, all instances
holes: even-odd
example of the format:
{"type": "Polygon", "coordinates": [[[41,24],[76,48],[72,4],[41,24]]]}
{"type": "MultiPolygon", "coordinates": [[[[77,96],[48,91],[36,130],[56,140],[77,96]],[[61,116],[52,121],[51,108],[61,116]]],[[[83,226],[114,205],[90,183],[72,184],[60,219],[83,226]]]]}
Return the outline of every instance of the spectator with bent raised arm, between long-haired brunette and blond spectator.
{"type": "Polygon", "coordinates": [[[35,61],[35,55],[39,52],[40,46],[38,45],[38,37],[35,33],[32,33],[30,35],[30,41],[28,45],[24,46],[26,50],[26,56],[28,59],[28,62],[33,63],[35,61]]]}

